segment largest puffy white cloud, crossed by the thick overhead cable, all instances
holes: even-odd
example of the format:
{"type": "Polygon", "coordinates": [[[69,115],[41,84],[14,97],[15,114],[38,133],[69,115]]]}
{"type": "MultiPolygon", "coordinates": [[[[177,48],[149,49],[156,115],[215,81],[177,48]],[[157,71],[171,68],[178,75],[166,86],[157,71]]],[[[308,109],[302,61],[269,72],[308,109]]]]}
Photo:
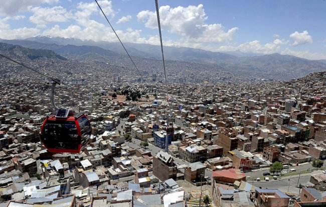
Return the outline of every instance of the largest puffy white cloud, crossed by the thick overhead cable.
{"type": "MultiPolygon", "coordinates": [[[[162,29],[168,29],[170,33],[184,36],[188,42],[220,43],[233,38],[238,27],[228,31],[221,24],[206,24],[208,16],[203,4],[188,7],[178,6],[171,8],[169,5],[159,7],[160,23],[162,29]]],[[[157,28],[156,12],[142,10],[137,14],[138,21],[144,22],[148,28],[157,28]]]]}

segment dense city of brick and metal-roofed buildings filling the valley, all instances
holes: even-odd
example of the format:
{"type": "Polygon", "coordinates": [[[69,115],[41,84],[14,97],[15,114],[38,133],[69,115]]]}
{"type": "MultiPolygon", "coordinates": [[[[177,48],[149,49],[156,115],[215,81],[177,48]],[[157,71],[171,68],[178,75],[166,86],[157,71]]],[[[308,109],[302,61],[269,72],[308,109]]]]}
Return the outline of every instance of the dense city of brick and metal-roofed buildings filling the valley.
{"type": "Polygon", "coordinates": [[[326,72],[274,81],[175,62],[168,99],[150,59],[138,73],[1,44],[2,54],[60,79],[56,104],[91,123],[80,153],[47,150],[51,81],[1,58],[3,206],[326,203],[326,72]]]}

